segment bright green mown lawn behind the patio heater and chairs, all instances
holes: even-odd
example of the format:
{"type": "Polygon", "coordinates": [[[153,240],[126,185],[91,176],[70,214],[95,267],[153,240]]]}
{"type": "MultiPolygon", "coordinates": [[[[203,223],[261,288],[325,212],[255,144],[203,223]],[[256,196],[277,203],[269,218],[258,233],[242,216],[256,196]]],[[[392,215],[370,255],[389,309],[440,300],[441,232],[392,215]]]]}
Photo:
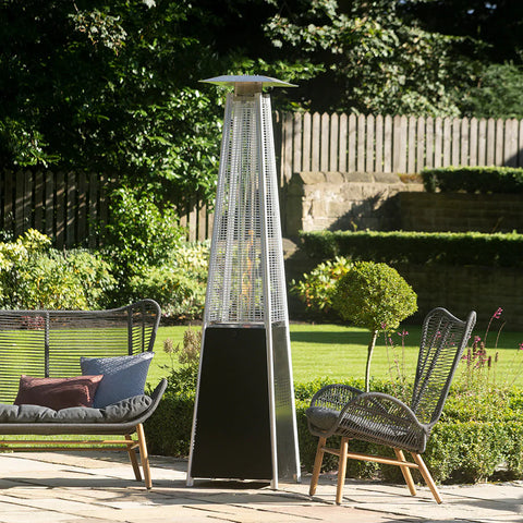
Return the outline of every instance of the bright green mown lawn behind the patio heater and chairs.
{"type": "MultiPolygon", "coordinates": [[[[193,327],[199,329],[200,327],[193,327]]],[[[149,370],[150,384],[166,376],[168,370],[162,366],[170,365],[168,354],[163,353],[163,340],[170,338],[174,344],[181,342],[186,327],[161,327],[158,331],[155,344],[156,356],[149,370]]],[[[392,351],[386,346],[385,336],[378,338],[373,356],[370,375],[375,378],[387,378],[390,376],[389,368],[394,366],[396,353],[401,362],[404,352],[405,373],[413,375],[416,364],[419,345],[421,328],[417,326],[405,326],[397,329],[409,331],[404,337],[405,346],[402,349],[402,338],[397,333],[392,335],[396,349],[392,351]]],[[[484,338],[485,331],[475,330],[474,335],[484,338]]],[[[522,332],[502,331],[498,346],[495,350],[497,331],[492,329],[487,337],[488,354],[495,356],[499,352],[499,361],[496,368],[497,379],[515,380],[516,385],[523,387],[523,351],[518,348],[523,341],[522,332]]],[[[369,333],[354,327],[340,325],[291,325],[291,348],[294,380],[299,382],[311,381],[318,377],[331,379],[345,379],[351,377],[363,378],[365,376],[365,362],[367,354],[369,333]]]]}

